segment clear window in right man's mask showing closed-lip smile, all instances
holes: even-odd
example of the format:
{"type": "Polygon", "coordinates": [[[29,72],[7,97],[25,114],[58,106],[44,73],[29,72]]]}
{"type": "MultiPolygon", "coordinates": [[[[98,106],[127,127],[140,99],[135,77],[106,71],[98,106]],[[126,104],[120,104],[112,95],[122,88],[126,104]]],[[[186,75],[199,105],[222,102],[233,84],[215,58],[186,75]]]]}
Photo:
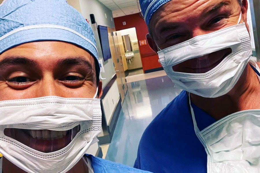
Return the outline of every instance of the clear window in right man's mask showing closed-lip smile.
{"type": "Polygon", "coordinates": [[[201,57],[183,61],[177,65],[172,66],[174,72],[202,74],[206,73],[217,65],[219,65],[224,58],[232,53],[231,48],[226,48],[213,52],[201,57]]]}

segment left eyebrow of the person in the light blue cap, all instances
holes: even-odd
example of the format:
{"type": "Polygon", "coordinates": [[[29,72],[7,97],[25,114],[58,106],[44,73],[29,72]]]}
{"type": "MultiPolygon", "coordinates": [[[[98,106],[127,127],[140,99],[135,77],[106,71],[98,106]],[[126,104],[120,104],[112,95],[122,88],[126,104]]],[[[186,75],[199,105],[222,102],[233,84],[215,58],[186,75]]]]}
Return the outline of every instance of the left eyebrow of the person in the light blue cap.
{"type": "Polygon", "coordinates": [[[34,60],[20,56],[8,56],[0,61],[0,71],[11,65],[29,65],[30,67],[37,67],[37,63],[34,60]]]}

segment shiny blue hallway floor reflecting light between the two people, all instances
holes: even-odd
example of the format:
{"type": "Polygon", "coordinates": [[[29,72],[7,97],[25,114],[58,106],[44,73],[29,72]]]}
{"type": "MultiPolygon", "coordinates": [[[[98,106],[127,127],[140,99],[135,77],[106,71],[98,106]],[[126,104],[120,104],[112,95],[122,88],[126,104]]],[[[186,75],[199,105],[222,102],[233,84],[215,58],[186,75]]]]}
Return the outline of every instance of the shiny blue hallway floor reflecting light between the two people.
{"type": "Polygon", "coordinates": [[[145,128],[181,90],[167,76],[127,83],[127,86],[105,159],[133,166],[145,128]]]}

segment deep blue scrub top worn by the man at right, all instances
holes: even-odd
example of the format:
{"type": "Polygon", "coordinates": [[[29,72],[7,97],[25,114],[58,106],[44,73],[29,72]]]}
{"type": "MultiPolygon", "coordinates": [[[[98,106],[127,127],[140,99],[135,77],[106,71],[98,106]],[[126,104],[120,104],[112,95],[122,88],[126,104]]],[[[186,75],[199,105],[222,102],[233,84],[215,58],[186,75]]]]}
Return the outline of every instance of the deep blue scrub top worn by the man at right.
{"type": "MultiPolygon", "coordinates": [[[[216,120],[192,104],[198,128],[216,120]]],[[[135,168],[154,173],[207,173],[207,153],[194,132],[186,91],[182,91],[146,128],[135,168]]]]}

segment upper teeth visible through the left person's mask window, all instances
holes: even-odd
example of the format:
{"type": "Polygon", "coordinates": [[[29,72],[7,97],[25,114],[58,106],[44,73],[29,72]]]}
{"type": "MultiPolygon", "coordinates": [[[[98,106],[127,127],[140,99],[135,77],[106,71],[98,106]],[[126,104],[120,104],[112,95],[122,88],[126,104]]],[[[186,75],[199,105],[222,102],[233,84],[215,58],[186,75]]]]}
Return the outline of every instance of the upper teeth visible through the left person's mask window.
{"type": "Polygon", "coordinates": [[[67,131],[53,131],[53,130],[30,130],[30,135],[34,139],[55,140],[66,136],[67,131]]]}

